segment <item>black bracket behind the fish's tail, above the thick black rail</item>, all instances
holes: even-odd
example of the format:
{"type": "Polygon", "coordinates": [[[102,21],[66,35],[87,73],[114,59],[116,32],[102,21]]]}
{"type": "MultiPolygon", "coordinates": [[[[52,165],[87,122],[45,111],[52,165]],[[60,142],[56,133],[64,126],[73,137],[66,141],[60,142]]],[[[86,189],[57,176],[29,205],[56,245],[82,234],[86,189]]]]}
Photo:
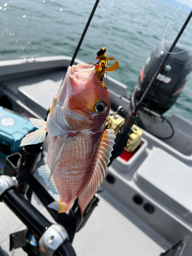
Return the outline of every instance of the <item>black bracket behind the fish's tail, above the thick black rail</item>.
{"type": "MultiPolygon", "coordinates": [[[[36,145],[36,147],[37,146],[38,144],[36,145]]],[[[33,149],[38,152],[36,150],[36,147],[33,149]]],[[[30,151],[29,148],[28,151],[30,151]]],[[[26,150],[24,150],[23,152],[25,153],[23,156],[19,153],[14,153],[7,157],[5,175],[17,176],[17,179],[19,180],[18,190],[21,194],[25,195],[25,189],[27,189],[27,196],[29,200],[31,198],[32,191],[34,191],[34,193],[37,195],[41,203],[47,208],[54,220],[58,224],[61,224],[63,227],[66,228],[69,234],[70,242],[72,243],[75,232],[78,232],[86,224],[94,208],[98,205],[99,199],[96,196],[92,199],[87,208],[84,210],[82,219],[80,207],[78,205],[78,199],[76,199],[72,209],[69,212],[69,215],[65,213],[58,214],[58,212],[54,209],[47,207],[50,203],[54,201],[54,199],[48,193],[46,188],[44,188],[32,175],[36,167],[38,158],[37,155],[35,155],[33,152],[31,154],[30,152],[26,153],[26,150]],[[31,168],[31,166],[33,166],[33,168],[31,168]],[[30,170],[28,170],[29,167],[30,170]],[[30,172],[31,170],[32,172],[30,172]]]]}

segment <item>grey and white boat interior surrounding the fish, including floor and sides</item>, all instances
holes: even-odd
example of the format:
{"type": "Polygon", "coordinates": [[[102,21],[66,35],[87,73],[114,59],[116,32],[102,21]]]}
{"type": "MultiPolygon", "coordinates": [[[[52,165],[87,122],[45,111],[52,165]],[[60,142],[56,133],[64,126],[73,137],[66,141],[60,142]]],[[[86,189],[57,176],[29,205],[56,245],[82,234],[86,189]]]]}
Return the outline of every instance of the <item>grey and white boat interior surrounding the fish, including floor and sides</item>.
{"type": "MultiPolygon", "coordinates": [[[[22,61],[0,63],[0,98],[8,96],[13,111],[19,114],[44,119],[70,58],[37,58],[36,63],[22,61]]],[[[126,87],[112,78],[108,84],[113,105],[123,105],[128,111],[130,101],[125,98],[126,87]]],[[[185,154],[192,148],[192,135],[188,133],[192,123],[178,116],[170,119],[177,126],[174,135],[177,138],[162,141],[143,130],[143,144],[137,153],[128,162],[119,157],[110,166],[108,177],[111,175],[115,182],[112,184],[106,177],[101,186],[103,192],[98,194],[98,206],[75,234],[73,246],[77,256],[159,256],[186,234],[192,234],[192,154],[185,154]],[[136,200],[138,197],[140,203],[136,200]]],[[[45,151],[46,148],[44,143],[45,151]]],[[[37,167],[45,161],[46,158],[37,167]]],[[[34,175],[46,186],[37,172],[34,175]]],[[[32,203],[53,221],[35,195],[32,203]]],[[[3,203],[0,203],[0,212],[1,250],[11,255],[9,234],[25,226],[3,203]]],[[[26,253],[16,249],[15,255],[26,253]]]]}

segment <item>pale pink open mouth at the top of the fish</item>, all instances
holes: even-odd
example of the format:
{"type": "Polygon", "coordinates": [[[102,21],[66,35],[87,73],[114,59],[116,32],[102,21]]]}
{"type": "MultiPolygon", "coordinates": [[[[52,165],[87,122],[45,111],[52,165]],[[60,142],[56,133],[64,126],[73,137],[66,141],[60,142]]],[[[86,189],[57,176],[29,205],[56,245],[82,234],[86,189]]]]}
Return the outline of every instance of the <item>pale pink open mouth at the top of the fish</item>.
{"type": "Polygon", "coordinates": [[[73,80],[89,81],[96,74],[95,67],[91,65],[78,64],[68,68],[68,75],[73,80]]]}

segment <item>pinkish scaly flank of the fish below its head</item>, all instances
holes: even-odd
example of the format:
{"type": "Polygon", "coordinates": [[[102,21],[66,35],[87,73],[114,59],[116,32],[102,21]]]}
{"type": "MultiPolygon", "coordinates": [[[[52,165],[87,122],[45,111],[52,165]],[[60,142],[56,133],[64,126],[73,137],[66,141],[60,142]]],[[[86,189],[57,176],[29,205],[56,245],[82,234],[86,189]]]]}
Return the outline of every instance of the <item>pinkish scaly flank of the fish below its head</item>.
{"type": "MultiPolygon", "coordinates": [[[[63,198],[67,204],[71,202],[71,195],[76,196],[79,191],[82,191],[92,175],[96,152],[94,152],[91,137],[91,135],[80,134],[68,139],[55,167],[53,180],[56,177],[63,177],[57,189],[59,194],[63,195],[61,200],[63,198]]],[[[97,144],[99,146],[98,141],[97,144]]]]}

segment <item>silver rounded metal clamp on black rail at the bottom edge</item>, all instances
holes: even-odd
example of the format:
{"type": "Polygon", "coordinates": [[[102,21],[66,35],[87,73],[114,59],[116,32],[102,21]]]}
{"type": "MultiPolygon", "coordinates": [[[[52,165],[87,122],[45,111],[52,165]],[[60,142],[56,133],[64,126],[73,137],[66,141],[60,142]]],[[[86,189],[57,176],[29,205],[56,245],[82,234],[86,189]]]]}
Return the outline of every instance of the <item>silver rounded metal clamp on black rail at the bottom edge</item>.
{"type": "Polygon", "coordinates": [[[66,229],[59,224],[53,224],[42,234],[39,247],[46,255],[52,256],[66,239],[68,239],[66,229]]]}

